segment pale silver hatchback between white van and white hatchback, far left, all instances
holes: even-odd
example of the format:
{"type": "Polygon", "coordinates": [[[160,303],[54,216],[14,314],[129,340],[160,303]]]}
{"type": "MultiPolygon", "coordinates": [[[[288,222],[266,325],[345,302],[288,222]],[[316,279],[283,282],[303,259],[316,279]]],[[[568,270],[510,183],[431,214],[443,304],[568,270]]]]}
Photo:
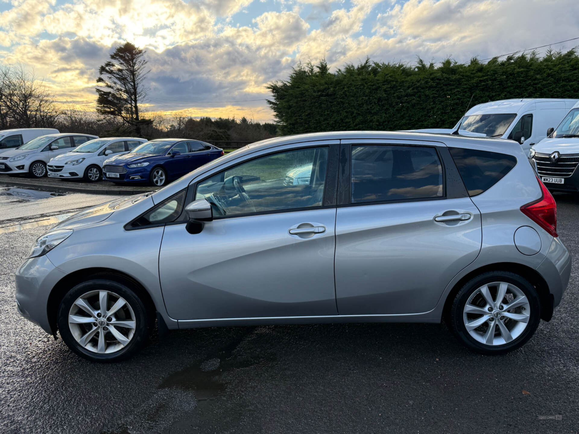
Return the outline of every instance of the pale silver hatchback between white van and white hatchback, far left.
{"type": "Polygon", "coordinates": [[[51,159],[92,139],[98,137],[74,133],[41,135],[18,148],[2,153],[0,173],[10,175],[28,173],[33,178],[42,178],[46,176],[46,164],[51,159]]]}

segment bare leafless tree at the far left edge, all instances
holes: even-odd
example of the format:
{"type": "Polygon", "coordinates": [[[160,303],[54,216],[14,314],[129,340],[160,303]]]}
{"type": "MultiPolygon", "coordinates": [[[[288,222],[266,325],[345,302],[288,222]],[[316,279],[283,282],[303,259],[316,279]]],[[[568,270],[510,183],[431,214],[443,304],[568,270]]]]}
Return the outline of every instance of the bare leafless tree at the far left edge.
{"type": "Polygon", "coordinates": [[[20,64],[0,69],[0,128],[52,126],[57,116],[53,93],[34,71],[20,64]]]}

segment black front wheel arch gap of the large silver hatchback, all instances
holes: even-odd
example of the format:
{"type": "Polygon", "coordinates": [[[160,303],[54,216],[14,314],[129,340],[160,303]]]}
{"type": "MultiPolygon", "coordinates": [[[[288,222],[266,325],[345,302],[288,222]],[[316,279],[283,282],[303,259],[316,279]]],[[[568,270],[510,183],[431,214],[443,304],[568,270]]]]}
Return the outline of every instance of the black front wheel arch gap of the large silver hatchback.
{"type": "Polygon", "coordinates": [[[57,314],[60,301],[71,288],[74,288],[75,285],[78,285],[79,283],[93,277],[108,277],[109,279],[129,286],[129,288],[133,289],[137,295],[141,297],[141,300],[143,304],[145,304],[146,309],[151,313],[152,317],[155,318],[155,312],[157,311],[155,302],[153,301],[148,290],[146,290],[146,288],[139,281],[137,281],[137,279],[133,278],[129,274],[114,269],[98,267],[82,269],[65,275],[60,279],[60,281],[57,282],[56,285],[54,285],[53,289],[50,291],[50,295],[48,296],[48,301],[46,303],[46,315],[53,334],[56,335],[56,330],[58,328],[57,314]]]}

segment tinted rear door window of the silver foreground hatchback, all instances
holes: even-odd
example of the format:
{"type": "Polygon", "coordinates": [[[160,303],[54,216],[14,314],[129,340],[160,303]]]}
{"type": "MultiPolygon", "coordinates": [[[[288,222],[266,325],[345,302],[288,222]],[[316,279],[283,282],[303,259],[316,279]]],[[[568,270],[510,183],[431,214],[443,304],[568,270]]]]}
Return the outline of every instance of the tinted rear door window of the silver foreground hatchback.
{"type": "Polygon", "coordinates": [[[442,164],[434,148],[352,146],[351,202],[444,196],[442,164]]]}

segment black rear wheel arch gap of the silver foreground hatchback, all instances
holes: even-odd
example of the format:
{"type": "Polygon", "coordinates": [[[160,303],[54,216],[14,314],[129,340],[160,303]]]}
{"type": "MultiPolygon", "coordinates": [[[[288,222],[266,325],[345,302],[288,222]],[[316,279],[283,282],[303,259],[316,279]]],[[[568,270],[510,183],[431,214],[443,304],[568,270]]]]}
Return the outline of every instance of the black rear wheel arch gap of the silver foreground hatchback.
{"type": "Polygon", "coordinates": [[[442,318],[444,321],[449,323],[450,308],[452,307],[452,303],[455,300],[456,294],[459,292],[459,290],[472,278],[479,274],[487,273],[488,271],[510,271],[511,273],[519,274],[523,278],[527,279],[527,281],[529,281],[529,283],[537,290],[541,308],[541,319],[544,319],[544,321],[551,320],[551,317],[553,316],[554,297],[551,292],[549,292],[549,285],[547,285],[547,282],[543,276],[541,276],[541,274],[539,274],[536,270],[523,264],[500,262],[488,264],[478,269],[472,270],[461,277],[458,282],[456,282],[455,286],[453,286],[453,288],[446,296],[446,300],[444,302],[444,308],[442,309],[442,318]]]}

